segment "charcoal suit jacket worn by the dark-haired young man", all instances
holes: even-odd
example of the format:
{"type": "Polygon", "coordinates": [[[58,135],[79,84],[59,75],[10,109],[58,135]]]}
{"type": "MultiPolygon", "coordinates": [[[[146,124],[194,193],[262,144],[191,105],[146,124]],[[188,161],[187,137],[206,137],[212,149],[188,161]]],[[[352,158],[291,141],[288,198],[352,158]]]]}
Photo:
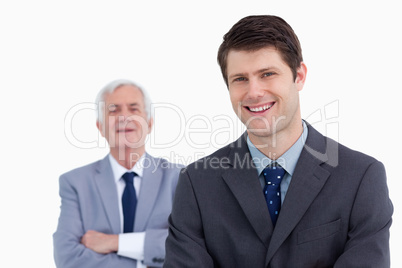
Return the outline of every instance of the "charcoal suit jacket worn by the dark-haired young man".
{"type": "Polygon", "coordinates": [[[182,172],[164,267],[389,267],[384,166],[309,126],[273,228],[245,135],[182,172]]]}

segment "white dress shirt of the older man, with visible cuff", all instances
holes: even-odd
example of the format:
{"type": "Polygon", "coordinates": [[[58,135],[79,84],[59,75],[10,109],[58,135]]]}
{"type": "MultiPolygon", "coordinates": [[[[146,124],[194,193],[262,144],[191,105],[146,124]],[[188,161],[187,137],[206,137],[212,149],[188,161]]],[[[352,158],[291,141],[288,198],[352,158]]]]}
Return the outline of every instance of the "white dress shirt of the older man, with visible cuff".
{"type": "Polygon", "coordinates": [[[121,233],[119,234],[119,249],[117,254],[120,256],[132,258],[137,260],[137,268],[146,267],[142,264],[144,260],[144,241],[145,241],[145,232],[133,232],[133,233],[123,233],[123,205],[121,202],[124,188],[126,187],[126,182],[122,178],[123,174],[126,172],[133,171],[137,175],[134,177],[134,189],[137,197],[140,194],[141,189],[141,179],[143,175],[143,162],[144,162],[143,154],[141,158],[137,161],[134,167],[131,170],[126,169],[121,166],[114,157],[109,154],[110,165],[112,166],[112,171],[114,175],[114,180],[117,188],[117,196],[119,200],[119,214],[120,214],[120,229],[121,233]]]}

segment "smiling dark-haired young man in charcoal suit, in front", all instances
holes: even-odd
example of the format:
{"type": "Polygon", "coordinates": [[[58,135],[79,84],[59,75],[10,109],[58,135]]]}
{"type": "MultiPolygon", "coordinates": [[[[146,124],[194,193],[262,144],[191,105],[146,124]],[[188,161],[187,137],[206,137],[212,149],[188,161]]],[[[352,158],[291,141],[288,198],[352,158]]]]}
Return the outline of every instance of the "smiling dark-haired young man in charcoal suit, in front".
{"type": "Polygon", "coordinates": [[[243,18],[218,62],[247,131],[180,174],[164,267],[389,267],[384,166],[302,120],[292,28],[243,18]]]}

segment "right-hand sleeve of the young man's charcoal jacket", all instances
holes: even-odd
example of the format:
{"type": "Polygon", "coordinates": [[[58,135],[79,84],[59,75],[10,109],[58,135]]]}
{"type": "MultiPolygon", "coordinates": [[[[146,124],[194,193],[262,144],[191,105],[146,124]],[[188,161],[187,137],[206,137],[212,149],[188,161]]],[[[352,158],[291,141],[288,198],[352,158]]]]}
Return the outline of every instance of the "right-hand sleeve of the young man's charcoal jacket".
{"type": "Polygon", "coordinates": [[[361,181],[350,218],[349,239],[334,267],[390,267],[392,213],[385,169],[375,162],[361,181]]]}

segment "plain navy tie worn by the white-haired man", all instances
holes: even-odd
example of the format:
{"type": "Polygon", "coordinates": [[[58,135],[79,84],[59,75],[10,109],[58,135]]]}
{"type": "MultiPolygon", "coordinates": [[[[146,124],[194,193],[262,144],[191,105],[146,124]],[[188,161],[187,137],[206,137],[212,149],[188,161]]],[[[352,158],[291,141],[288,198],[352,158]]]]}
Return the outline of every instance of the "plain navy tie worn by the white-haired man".
{"type": "Polygon", "coordinates": [[[124,219],[124,233],[131,233],[134,228],[135,209],[137,207],[137,195],[134,189],[134,172],[124,173],[123,179],[126,182],[124,188],[122,203],[123,203],[123,219],[124,219]]]}

